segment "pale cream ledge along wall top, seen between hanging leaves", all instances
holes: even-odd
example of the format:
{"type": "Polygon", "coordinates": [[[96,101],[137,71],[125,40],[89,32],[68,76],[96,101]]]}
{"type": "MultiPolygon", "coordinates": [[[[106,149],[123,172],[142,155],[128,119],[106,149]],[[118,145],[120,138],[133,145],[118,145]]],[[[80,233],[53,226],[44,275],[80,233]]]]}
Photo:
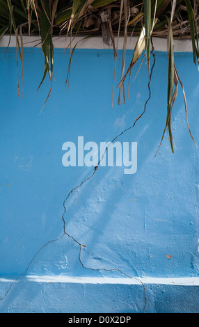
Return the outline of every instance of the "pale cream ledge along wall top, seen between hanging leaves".
{"type": "MultiPolygon", "coordinates": [[[[113,49],[113,47],[109,47],[105,45],[102,37],[93,37],[86,38],[85,37],[76,37],[72,42],[72,47],[78,43],[77,49],[113,49]]],[[[119,38],[118,49],[123,48],[123,38],[119,38]]],[[[127,49],[134,49],[136,45],[137,37],[128,37],[127,39],[127,49]]],[[[7,47],[9,42],[9,36],[4,35],[3,38],[0,39],[0,47],[7,47]]],[[[20,42],[20,40],[19,40],[20,42]]],[[[70,45],[70,38],[67,38],[67,43],[65,42],[65,37],[54,37],[53,38],[54,47],[56,49],[65,49],[70,45]]],[[[153,38],[154,49],[157,51],[166,51],[167,49],[167,40],[165,38],[153,38]]],[[[24,36],[23,37],[23,45],[24,47],[41,47],[41,42],[39,36],[24,36]]],[[[12,35],[10,40],[10,47],[16,47],[16,38],[12,35]]],[[[191,52],[192,51],[192,43],[191,40],[174,40],[174,49],[176,52],[191,52]]]]}

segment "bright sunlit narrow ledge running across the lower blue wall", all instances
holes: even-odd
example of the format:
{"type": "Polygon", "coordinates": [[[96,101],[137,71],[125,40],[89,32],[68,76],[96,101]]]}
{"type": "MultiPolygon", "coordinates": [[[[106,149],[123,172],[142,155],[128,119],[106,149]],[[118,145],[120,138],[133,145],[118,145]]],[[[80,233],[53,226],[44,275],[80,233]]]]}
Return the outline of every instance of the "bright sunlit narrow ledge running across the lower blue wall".
{"type": "MultiPolygon", "coordinates": [[[[35,276],[30,275],[23,278],[26,282],[46,282],[46,283],[74,283],[74,284],[101,284],[101,285],[141,285],[143,283],[152,285],[178,285],[178,286],[199,286],[198,277],[182,278],[93,278],[93,277],[72,277],[72,276],[35,276]]],[[[15,282],[15,279],[0,278],[0,282],[15,282]]]]}

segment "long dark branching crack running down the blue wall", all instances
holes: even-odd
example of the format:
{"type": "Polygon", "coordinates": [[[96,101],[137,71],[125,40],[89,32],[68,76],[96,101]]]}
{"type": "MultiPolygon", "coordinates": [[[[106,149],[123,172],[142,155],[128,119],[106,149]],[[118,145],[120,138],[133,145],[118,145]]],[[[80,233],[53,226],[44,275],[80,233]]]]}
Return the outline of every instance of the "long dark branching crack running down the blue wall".
{"type": "MultiPolygon", "coordinates": [[[[152,40],[151,40],[152,42],[152,40]]],[[[143,313],[145,312],[145,308],[148,304],[148,300],[147,300],[147,296],[146,296],[146,290],[145,290],[145,285],[143,284],[143,282],[140,280],[139,277],[135,277],[135,276],[129,276],[126,273],[122,272],[120,269],[116,268],[116,269],[106,269],[106,268],[100,268],[100,269],[94,269],[94,268],[90,268],[87,267],[83,264],[82,260],[81,260],[81,250],[82,248],[86,248],[85,244],[81,244],[79,243],[79,241],[77,241],[77,239],[74,239],[74,237],[70,234],[68,234],[65,230],[65,214],[66,214],[66,206],[65,206],[65,202],[67,202],[67,199],[70,197],[70,195],[76,190],[79,189],[84,183],[88,182],[88,180],[90,180],[90,178],[92,178],[95,173],[97,172],[97,169],[99,168],[100,162],[102,161],[102,159],[104,158],[104,154],[106,154],[106,151],[108,150],[109,146],[111,144],[113,144],[114,141],[116,141],[117,138],[119,138],[120,136],[122,136],[122,134],[125,134],[127,131],[129,131],[130,129],[133,129],[136,125],[136,122],[144,115],[145,111],[146,111],[146,106],[150,100],[151,97],[151,90],[150,90],[150,83],[151,83],[151,79],[152,79],[152,72],[154,70],[154,65],[155,65],[155,55],[154,55],[154,45],[152,42],[152,50],[151,50],[151,54],[153,56],[153,65],[151,68],[151,72],[150,72],[150,79],[148,82],[148,91],[149,91],[149,96],[148,99],[145,102],[144,105],[144,110],[143,113],[141,113],[141,115],[138,115],[138,117],[136,118],[136,120],[134,121],[134,124],[130,127],[128,127],[127,129],[125,129],[124,131],[122,131],[120,134],[118,134],[115,138],[113,138],[113,140],[109,143],[109,145],[106,147],[106,149],[104,150],[104,153],[102,154],[102,158],[100,159],[100,161],[97,163],[97,166],[95,166],[93,173],[87,177],[85,180],[83,180],[83,182],[81,182],[80,184],[78,184],[76,187],[74,187],[68,194],[67,197],[65,198],[64,202],[63,202],[63,207],[64,207],[64,212],[63,212],[63,216],[62,216],[62,220],[63,220],[63,235],[61,237],[58,237],[57,239],[48,241],[44,246],[42,246],[37,253],[35,253],[35,255],[33,256],[33,258],[31,259],[31,261],[29,262],[26,271],[24,273],[22,273],[21,275],[19,275],[11,284],[10,287],[8,288],[8,290],[6,291],[6,293],[4,294],[4,296],[2,298],[0,298],[0,301],[2,301],[4,298],[6,298],[6,296],[8,295],[8,293],[10,292],[10,290],[12,289],[13,285],[22,277],[26,276],[26,273],[29,271],[29,267],[31,266],[31,264],[33,263],[33,260],[35,260],[35,257],[37,257],[37,255],[43,250],[43,248],[45,248],[46,246],[48,246],[51,243],[55,243],[56,241],[59,241],[60,239],[63,239],[63,237],[66,235],[67,237],[71,238],[75,243],[77,243],[79,245],[79,262],[81,264],[81,266],[83,267],[83,269],[88,269],[88,270],[92,270],[92,271],[118,271],[119,273],[121,273],[123,276],[126,276],[128,278],[135,278],[136,280],[138,280],[138,282],[141,282],[141,285],[143,286],[143,291],[144,291],[144,299],[145,299],[145,305],[143,308],[143,313]]],[[[135,269],[135,268],[134,268],[135,269]]],[[[135,269],[136,271],[136,269],[135,269]]],[[[137,275],[138,272],[136,271],[137,275]]]]}

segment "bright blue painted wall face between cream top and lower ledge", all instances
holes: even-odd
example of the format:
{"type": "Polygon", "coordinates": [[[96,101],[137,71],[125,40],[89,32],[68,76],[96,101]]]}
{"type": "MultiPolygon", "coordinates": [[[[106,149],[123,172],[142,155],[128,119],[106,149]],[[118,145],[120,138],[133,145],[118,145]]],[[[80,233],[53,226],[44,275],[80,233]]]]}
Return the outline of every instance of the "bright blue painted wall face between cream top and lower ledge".
{"type": "MultiPolygon", "coordinates": [[[[49,91],[46,80],[36,92],[42,79],[42,51],[24,50],[22,99],[17,97],[15,49],[8,49],[6,60],[5,51],[0,49],[1,277],[17,278],[25,272],[29,275],[125,277],[117,269],[128,276],[198,276],[199,152],[186,126],[181,89],[172,116],[175,154],[171,153],[165,136],[154,159],[166,121],[167,54],[155,53],[152,95],[145,114],[134,129],[117,140],[138,143],[136,174],[125,175],[123,167],[100,167],[93,178],[65,202],[65,230],[86,245],[81,250],[81,262],[90,269],[85,269],[79,261],[79,245],[66,235],[62,237],[63,201],[93,168],[65,168],[62,145],[66,141],[77,144],[78,136],[83,136],[85,142],[100,145],[133,125],[148,99],[148,68],[143,64],[131,83],[125,105],[118,106],[118,90],[115,90],[111,109],[113,52],[77,49],[67,90],[69,52],[64,54],[63,50],[56,49],[56,82],[39,115],[49,91]],[[59,237],[62,238],[48,244],[59,237]],[[47,246],[42,248],[45,244],[47,246]],[[170,260],[166,255],[171,256],[170,260]]],[[[127,65],[131,59],[132,51],[128,51],[127,65]]],[[[186,90],[189,125],[199,144],[199,73],[191,54],[176,54],[175,63],[186,90]]],[[[120,80],[119,67],[118,62],[116,84],[120,80]]],[[[139,63],[132,79],[138,67],[139,63]]],[[[5,290],[6,286],[1,286],[0,297],[5,290]]],[[[72,292],[74,290],[75,287],[72,292]]],[[[31,296],[33,290],[29,288],[27,292],[31,296]]],[[[58,296],[57,290],[52,292],[58,296]]],[[[90,292],[92,299],[93,291],[90,292]]],[[[14,294],[17,296],[15,285],[1,301],[1,312],[8,311],[14,294]]],[[[140,301],[143,303],[142,288],[140,301]]],[[[117,310],[132,312],[136,304],[133,307],[123,309],[123,305],[117,310]]],[[[51,305],[43,305],[42,311],[49,308],[51,305]]],[[[62,310],[72,308],[63,305],[62,310]]],[[[12,310],[22,309],[16,304],[12,310]]],[[[95,305],[93,310],[97,311],[95,305]]],[[[114,307],[108,304],[106,310],[111,312],[114,307]]]]}

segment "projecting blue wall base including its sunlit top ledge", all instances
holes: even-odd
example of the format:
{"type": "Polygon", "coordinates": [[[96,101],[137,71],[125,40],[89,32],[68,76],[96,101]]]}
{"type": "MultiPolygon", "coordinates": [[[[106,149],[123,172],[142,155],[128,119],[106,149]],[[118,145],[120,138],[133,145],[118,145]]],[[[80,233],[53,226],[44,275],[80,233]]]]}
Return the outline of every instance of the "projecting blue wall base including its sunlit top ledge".
{"type": "Polygon", "coordinates": [[[199,278],[0,279],[1,313],[198,313],[199,278]],[[11,286],[11,289],[10,289],[11,286]],[[9,290],[10,289],[10,290],[9,290]]]}

